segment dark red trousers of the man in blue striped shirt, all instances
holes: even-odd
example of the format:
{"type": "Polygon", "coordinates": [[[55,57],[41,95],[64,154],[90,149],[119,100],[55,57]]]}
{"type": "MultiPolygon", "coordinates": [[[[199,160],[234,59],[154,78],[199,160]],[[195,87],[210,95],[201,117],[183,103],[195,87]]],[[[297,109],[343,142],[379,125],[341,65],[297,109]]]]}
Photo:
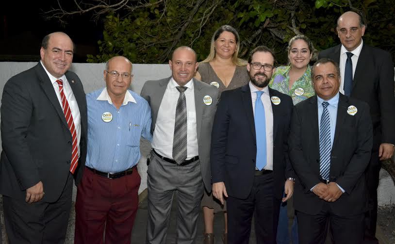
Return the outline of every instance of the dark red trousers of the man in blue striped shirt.
{"type": "Polygon", "coordinates": [[[85,168],[75,203],[75,244],[131,243],[140,175],[107,179],[85,168]]]}

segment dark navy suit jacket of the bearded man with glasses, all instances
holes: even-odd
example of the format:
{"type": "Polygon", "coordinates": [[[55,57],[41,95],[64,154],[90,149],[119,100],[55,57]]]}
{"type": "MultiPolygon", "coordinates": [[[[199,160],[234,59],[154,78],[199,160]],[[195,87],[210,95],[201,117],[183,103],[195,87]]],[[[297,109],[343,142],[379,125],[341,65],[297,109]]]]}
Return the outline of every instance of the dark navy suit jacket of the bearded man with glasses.
{"type": "MultiPolygon", "coordinates": [[[[273,109],[274,195],[282,197],[286,177],[293,177],[288,158],[288,132],[292,98],[269,88],[270,97],[281,102],[273,109]]],[[[249,85],[224,91],[214,117],[211,140],[213,183],[225,182],[228,195],[245,199],[252,189],[255,174],[256,135],[249,85]]]]}

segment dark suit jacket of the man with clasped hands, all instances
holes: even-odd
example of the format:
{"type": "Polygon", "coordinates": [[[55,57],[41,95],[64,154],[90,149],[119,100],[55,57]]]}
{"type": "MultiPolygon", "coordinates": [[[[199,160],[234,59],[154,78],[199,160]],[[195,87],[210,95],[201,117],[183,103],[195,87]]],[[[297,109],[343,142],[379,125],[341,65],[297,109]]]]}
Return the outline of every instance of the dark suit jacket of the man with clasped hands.
{"type": "MultiPolygon", "coordinates": [[[[317,214],[325,202],[310,191],[320,182],[318,121],[317,96],[295,105],[289,136],[291,163],[297,175],[294,206],[297,211],[307,214],[317,214]]],[[[370,160],[372,131],[369,106],[340,94],[329,173],[329,178],[346,191],[337,201],[329,203],[337,215],[353,215],[367,210],[363,172],[370,160]],[[358,109],[354,116],[347,114],[351,105],[358,109]]]]}

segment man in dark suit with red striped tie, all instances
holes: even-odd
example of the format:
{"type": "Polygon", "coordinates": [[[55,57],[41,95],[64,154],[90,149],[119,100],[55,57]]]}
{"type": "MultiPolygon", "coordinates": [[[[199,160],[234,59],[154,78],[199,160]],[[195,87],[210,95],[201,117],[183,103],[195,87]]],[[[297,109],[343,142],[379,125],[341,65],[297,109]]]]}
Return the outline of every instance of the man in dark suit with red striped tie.
{"type": "Polygon", "coordinates": [[[86,100],[78,76],[67,71],[73,42],[51,33],[41,61],[12,77],[1,104],[0,193],[9,243],[63,243],[73,178],[86,157],[86,100]]]}

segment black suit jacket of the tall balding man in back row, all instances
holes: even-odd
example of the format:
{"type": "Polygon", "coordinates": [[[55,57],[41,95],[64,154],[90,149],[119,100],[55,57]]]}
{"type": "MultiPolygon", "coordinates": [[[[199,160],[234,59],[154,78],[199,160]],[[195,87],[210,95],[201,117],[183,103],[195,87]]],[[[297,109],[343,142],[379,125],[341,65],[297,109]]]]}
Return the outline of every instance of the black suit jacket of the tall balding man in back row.
{"type": "MultiPolygon", "coordinates": [[[[330,58],[339,63],[340,48],[338,45],[323,50],[318,58],[330,58]]],[[[350,97],[369,104],[373,151],[378,151],[381,143],[395,145],[394,64],[389,52],[363,44],[350,97]]]]}

